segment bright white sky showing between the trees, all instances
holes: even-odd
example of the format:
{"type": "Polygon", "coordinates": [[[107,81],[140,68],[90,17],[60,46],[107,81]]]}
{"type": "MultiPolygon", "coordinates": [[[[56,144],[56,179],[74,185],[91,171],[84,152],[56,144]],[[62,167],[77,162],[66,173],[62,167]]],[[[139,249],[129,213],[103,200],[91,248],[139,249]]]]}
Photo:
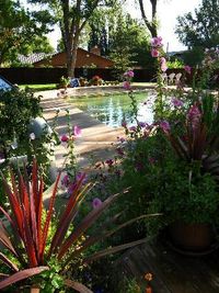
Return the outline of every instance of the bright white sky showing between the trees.
{"type": "MultiPolygon", "coordinates": [[[[22,0],[25,2],[26,0],[22,0]]],[[[186,49],[186,47],[177,41],[177,36],[174,34],[176,26],[176,18],[183,15],[189,11],[194,11],[195,8],[201,3],[201,0],[159,0],[158,1],[158,19],[159,19],[159,35],[163,38],[164,47],[169,47],[169,52],[186,49]]],[[[149,0],[145,0],[146,11],[151,13],[151,5],[149,0]]],[[[128,0],[126,4],[126,11],[134,18],[140,16],[140,11],[135,4],[135,0],[128,0]]],[[[149,14],[150,15],[150,14],[149,14]]],[[[50,44],[56,48],[57,40],[60,38],[59,29],[56,29],[49,35],[50,44]]]]}

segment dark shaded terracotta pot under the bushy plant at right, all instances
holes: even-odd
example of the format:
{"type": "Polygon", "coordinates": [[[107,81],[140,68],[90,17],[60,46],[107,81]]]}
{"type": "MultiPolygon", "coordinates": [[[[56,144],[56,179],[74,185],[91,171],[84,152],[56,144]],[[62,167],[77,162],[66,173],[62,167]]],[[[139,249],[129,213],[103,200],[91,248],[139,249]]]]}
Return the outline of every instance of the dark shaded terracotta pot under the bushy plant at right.
{"type": "Polygon", "coordinates": [[[178,221],[169,227],[169,234],[173,245],[186,251],[205,251],[215,240],[209,224],[186,224],[178,221]]]}

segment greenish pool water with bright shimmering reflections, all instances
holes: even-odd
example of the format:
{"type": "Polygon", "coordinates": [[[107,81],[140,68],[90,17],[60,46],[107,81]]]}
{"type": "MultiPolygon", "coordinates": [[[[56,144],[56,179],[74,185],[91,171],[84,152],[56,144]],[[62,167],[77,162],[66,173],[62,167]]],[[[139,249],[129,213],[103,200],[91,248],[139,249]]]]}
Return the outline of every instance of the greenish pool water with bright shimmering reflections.
{"type": "MultiPolygon", "coordinates": [[[[135,93],[138,103],[138,121],[151,124],[153,122],[151,91],[135,93]],[[149,99],[150,98],[150,99],[149,99]],[[150,101],[149,101],[150,100],[150,101]]],[[[119,127],[123,121],[134,125],[131,116],[131,100],[128,94],[96,95],[89,98],[72,98],[72,103],[93,117],[113,127],[119,127]]]]}

